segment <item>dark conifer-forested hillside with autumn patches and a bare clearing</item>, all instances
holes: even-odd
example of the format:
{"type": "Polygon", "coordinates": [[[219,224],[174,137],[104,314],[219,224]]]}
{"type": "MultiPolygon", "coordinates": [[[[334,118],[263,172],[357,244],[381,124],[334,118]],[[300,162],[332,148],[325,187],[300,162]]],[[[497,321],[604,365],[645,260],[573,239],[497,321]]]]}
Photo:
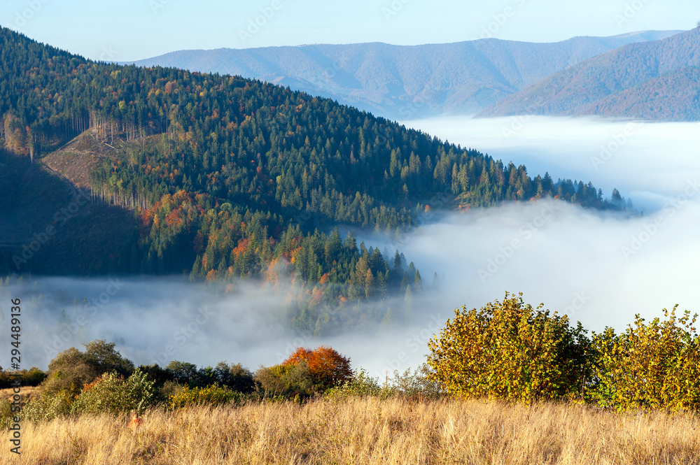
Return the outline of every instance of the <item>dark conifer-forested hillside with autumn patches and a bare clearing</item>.
{"type": "Polygon", "coordinates": [[[284,87],[90,62],[9,29],[0,55],[3,159],[18,170],[3,182],[33,180],[5,207],[27,231],[4,241],[3,271],[235,280],[282,269],[355,299],[405,289],[419,273],[400,253],[340,238],[336,224],[395,234],[431,208],[545,196],[621,207],[591,183],[531,178],[524,166],[284,87]],[[36,194],[48,178],[64,197],[36,194]],[[87,206],[57,220],[55,203],[73,191],[87,206]],[[54,242],[25,259],[32,234],[52,224],[54,242]]]}

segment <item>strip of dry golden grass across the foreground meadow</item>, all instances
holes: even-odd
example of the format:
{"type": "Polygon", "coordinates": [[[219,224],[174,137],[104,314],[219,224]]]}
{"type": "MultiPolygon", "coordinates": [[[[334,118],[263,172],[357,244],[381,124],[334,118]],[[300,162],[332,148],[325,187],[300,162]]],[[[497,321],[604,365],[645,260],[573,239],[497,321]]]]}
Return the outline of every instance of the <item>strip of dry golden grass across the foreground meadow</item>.
{"type": "MultiPolygon", "coordinates": [[[[587,406],[351,399],[80,417],[22,426],[43,464],[700,464],[700,418],[587,406]]],[[[6,434],[6,433],[5,433],[6,434]]]]}

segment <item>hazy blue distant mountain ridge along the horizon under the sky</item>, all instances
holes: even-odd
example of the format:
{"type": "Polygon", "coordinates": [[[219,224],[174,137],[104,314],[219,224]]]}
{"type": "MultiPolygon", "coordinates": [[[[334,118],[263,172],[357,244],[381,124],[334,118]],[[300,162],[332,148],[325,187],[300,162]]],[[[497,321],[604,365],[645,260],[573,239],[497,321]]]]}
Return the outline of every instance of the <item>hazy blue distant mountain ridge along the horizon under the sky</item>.
{"type": "Polygon", "coordinates": [[[487,38],[413,46],[358,43],[183,50],[130,63],[255,78],[406,120],[474,114],[571,64],[676,33],[641,31],[556,43],[487,38]]]}

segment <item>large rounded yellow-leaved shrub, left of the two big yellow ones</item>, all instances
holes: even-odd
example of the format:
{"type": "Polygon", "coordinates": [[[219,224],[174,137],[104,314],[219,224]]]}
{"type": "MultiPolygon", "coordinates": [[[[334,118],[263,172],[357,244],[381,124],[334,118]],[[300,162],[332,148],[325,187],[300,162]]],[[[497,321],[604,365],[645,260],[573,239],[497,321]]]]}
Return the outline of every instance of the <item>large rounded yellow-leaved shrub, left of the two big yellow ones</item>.
{"type": "Polygon", "coordinates": [[[589,345],[581,324],[535,310],[505,294],[481,310],[455,310],[428,343],[429,379],[450,394],[501,399],[573,398],[589,378],[589,345]]]}

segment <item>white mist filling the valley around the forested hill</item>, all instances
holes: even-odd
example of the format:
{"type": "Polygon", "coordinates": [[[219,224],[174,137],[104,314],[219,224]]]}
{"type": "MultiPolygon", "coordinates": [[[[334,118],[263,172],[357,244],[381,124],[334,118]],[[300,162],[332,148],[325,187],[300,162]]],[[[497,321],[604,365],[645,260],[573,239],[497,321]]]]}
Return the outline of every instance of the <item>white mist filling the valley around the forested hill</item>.
{"type": "MultiPolygon", "coordinates": [[[[454,308],[480,308],[505,292],[523,292],[527,303],[544,303],[596,331],[622,330],[636,313],[661,316],[675,303],[700,313],[694,292],[700,280],[700,124],[513,117],[410,125],[505,163],[525,164],[531,176],[549,171],[555,180],[590,180],[605,196],[617,187],[644,215],[550,199],[435,212],[398,241],[358,231],[367,248],[387,248],[391,257],[403,252],[421,272],[425,290],[414,295],[410,324],[325,338],[288,329],[284,288],[272,292],[246,282],[223,294],[176,279],[120,278],[116,289],[106,278],[38,278],[37,286],[48,290],[41,301],[34,297],[32,313],[23,313],[22,365],[45,369],[55,350],[82,348],[80,343],[95,338],[115,341],[136,364],[177,359],[207,366],[225,360],[253,370],[281,362],[300,345],[325,344],[350,357],[353,367],[384,379],[387,371],[424,362],[428,339],[454,308]],[[433,273],[439,276],[435,287],[433,273]],[[80,302],[73,306],[73,296],[87,298],[89,310],[80,302]],[[81,314],[84,321],[78,321],[81,314]]],[[[33,286],[31,278],[2,289],[1,327],[8,327],[9,299],[24,298],[33,286]]],[[[363,305],[400,312],[404,299],[363,305]]],[[[2,366],[8,337],[8,331],[0,334],[2,366]]]]}

